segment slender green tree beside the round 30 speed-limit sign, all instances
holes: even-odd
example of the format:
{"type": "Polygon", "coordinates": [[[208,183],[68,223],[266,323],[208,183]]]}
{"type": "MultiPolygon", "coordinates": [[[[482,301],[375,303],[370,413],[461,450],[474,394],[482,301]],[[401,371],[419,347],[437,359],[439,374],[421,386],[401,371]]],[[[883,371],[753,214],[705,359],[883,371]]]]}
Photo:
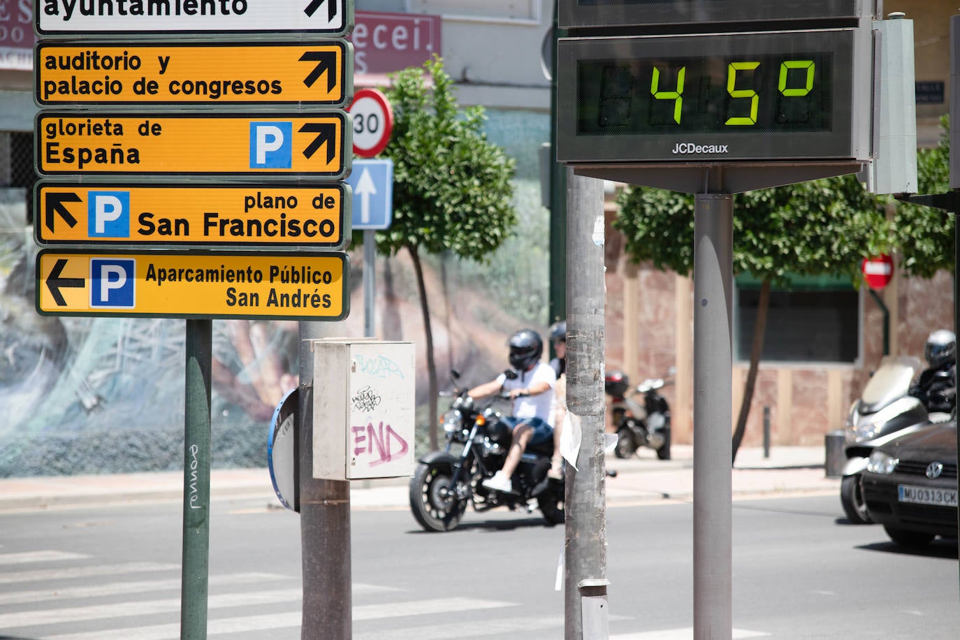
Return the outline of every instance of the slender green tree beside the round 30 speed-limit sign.
{"type": "Polygon", "coordinates": [[[437,367],[420,254],[450,251],[487,261],[516,225],[511,204],[516,162],[487,140],[482,107],[457,106],[442,59],[398,72],[386,95],[394,131],[383,154],[394,161],[394,214],[390,228],[376,233],[376,246],[389,255],[406,249],[417,273],[430,380],[430,446],[437,448],[437,367]]]}

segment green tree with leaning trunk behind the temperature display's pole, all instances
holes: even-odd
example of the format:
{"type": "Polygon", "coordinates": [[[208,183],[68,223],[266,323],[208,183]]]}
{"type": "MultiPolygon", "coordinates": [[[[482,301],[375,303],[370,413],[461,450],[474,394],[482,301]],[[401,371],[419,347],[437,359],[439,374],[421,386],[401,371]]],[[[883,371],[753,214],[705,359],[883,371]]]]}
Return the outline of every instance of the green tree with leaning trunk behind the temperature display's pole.
{"type": "MultiPolygon", "coordinates": [[[[626,236],[636,262],[688,275],[693,270],[693,197],[629,188],[618,199],[613,225],[626,236]]],[[[733,273],[759,278],[760,295],[750,367],[733,433],[733,459],[746,430],[763,350],[771,286],[789,287],[791,274],[849,275],[860,260],[890,245],[880,202],[845,176],[740,194],[734,201],[733,273]]]]}

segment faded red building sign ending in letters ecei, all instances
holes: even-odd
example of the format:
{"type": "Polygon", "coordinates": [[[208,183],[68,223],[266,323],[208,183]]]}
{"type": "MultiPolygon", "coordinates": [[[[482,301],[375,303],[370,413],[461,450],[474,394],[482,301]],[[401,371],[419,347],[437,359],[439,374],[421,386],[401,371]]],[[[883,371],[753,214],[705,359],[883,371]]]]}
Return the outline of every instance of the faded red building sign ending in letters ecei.
{"type": "MultiPolygon", "coordinates": [[[[356,12],[353,33],[353,71],[357,86],[369,86],[364,76],[385,76],[420,66],[440,55],[439,15],[423,13],[356,12]]],[[[372,83],[377,82],[371,79],[372,83]]]]}

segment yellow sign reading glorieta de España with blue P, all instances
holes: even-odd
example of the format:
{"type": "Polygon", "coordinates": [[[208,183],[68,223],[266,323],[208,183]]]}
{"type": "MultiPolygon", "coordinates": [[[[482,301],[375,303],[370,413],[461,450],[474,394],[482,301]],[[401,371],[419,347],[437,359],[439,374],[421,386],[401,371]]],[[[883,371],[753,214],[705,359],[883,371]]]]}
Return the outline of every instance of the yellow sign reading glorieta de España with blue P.
{"type": "Polygon", "coordinates": [[[207,111],[40,111],[36,171],[43,176],[316,176],[344,178],[348,115],[207,111]]]}

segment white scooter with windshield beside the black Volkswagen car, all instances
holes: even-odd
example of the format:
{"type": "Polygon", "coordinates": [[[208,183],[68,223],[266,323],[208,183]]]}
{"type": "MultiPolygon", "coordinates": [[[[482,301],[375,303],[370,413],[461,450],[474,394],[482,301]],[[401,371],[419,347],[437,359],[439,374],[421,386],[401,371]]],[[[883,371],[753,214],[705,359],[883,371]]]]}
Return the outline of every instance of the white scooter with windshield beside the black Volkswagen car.
{"type": "Polygon", "coordinates": [[[840,504],[852,524],[873,522],[860,480],[874,448],[950,417],[928,414],[923,402],[909,394],[910,381],[920,367],[920,360],[913,356],[885,356],[852,402],[844,434],[847,462],[840,481],[840,504]]]}

